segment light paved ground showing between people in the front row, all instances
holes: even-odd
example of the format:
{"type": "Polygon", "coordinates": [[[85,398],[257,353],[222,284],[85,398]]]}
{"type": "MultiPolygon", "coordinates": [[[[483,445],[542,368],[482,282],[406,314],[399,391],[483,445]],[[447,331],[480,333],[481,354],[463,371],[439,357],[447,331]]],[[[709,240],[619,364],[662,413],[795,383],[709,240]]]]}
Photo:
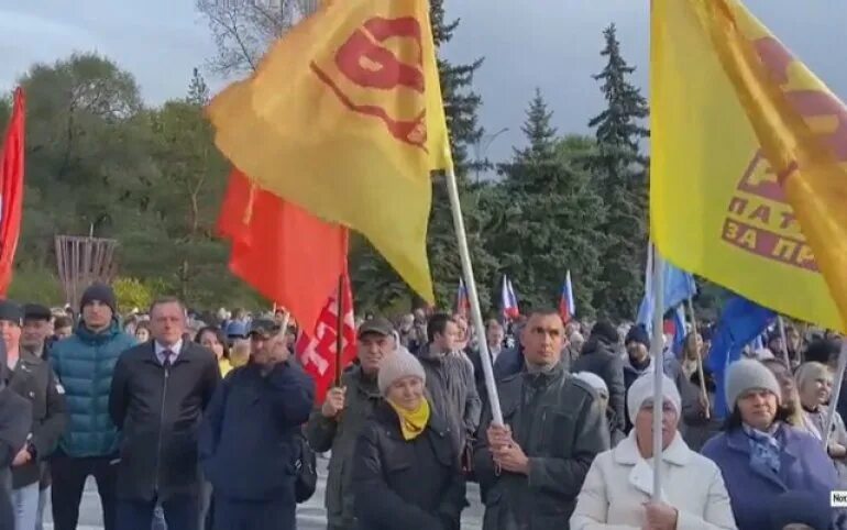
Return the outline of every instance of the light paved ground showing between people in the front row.
{"type": "MultiPolygon", "coordinates": [[[[319,481],[318,490],[306,504],[297,507],[297,530],[324,530],[327,528],[327,515],[323,509],[323,488],[327,484],[327,461],[318,460],[319,481]]],[[[480,530],[482,528],[482,506],[480,504],[480,490],[475,484],[468,486],[468,498],[471,506],[462,515],[462,529],[480,530]]],[[[50,508],[45,515],[45,530],[53,530],[50,508]]],[[[97,487],[94,481],[89,481],[82,495],[82,506],[79,514],[79,527],[77,530],[102,530],[102,515],[100,512],[100,497],[97,496],[97,487]]]]}

